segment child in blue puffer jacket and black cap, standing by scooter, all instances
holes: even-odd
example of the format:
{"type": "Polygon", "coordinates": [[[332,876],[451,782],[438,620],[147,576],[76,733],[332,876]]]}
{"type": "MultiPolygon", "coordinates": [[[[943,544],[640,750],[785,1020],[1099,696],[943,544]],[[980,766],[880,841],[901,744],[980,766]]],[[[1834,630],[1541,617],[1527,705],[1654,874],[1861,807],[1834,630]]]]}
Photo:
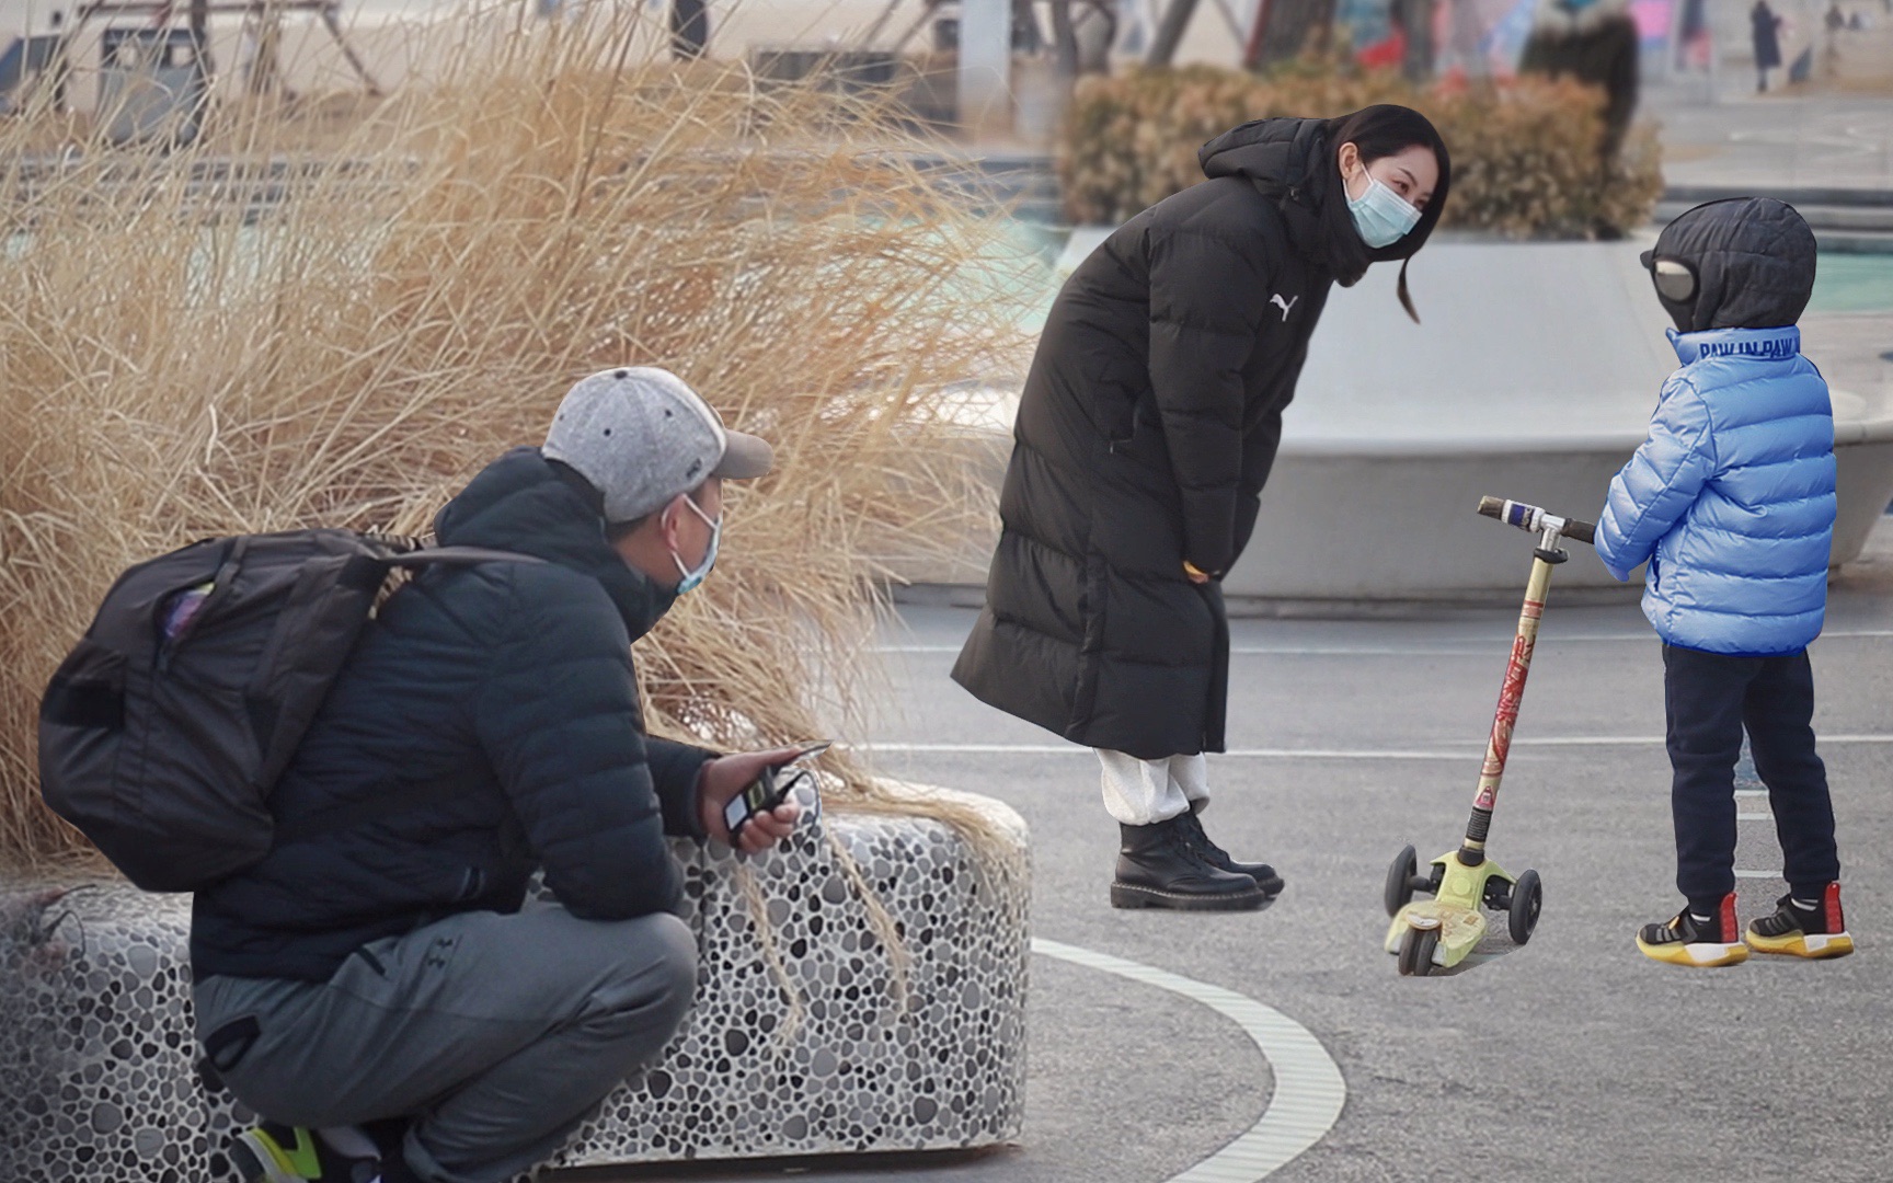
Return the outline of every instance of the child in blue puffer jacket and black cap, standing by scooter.
{"type": "Polygon", "coordinates": [[[1834,416],[1795,327],[1813,293],[1813,233],[1779,201],[1715,201],[1672,221],[1643,265],[1683,367],[1611,481],[1598,556],[1619,579],[1649,562],[1643,613],[1664,642],[1675,886],[1689,905],[1643,926],[1637,948],[1677,965],[1732,965],[1749,948],[1838,958],[1853,939],[1808,664],[1827,611],[1834,416]],[[1747,933],[1734,893],[1743,729],[1789,884],[1747,933]]]}

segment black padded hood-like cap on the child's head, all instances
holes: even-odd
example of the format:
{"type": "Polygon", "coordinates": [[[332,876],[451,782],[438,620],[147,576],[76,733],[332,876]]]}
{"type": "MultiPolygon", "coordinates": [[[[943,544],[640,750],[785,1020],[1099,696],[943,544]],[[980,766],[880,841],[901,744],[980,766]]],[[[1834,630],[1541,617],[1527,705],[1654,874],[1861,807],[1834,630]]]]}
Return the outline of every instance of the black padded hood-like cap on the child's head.
{"type": "Polygon", "coordinates": [[[1687,301],[1656,299],[1683,333],[1772,329],[1800,320],[1813,295],[1813,231],[1772,197],[1728,197],[1683,212],[1645,265],[1673,259],[1696,274],[1687,301]]]}

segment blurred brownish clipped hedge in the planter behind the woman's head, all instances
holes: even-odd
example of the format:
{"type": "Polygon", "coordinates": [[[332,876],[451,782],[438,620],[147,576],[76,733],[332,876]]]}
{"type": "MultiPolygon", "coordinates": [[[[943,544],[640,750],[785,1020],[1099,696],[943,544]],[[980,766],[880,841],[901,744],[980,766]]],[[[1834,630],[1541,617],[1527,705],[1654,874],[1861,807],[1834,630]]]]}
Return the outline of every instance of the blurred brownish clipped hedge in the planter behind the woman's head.
{"type": "Polygon", "coordinates": [[[1501,85],[1416,89],[1397,72],[1329,61],[1270,76],[1217,66],[1087,78],[1066,114],[1058,178],[1073,221],[1117,223],[1202,180],[1196,148],[1238,123],[1340,115],[1374,102],[1424,112],[1452,151],[1442,225],[1516,238],[1620,235],[1649,221],[1662,195],[1654,129],[1637,127],[1619,161],[1600,165],[1603,91],[1520,78],[1501,85]]]}

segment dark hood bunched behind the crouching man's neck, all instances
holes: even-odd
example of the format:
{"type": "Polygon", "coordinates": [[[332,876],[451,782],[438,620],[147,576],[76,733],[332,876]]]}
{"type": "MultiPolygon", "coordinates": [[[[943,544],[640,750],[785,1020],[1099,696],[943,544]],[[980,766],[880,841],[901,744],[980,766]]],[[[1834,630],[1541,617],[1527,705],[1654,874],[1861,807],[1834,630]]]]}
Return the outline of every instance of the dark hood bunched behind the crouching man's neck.
{"type": "Polygon", "coordinates": [[[540,449],[513,449],[488,464],[435,515],[433,536],[441,545],[515,551],[591,575],[611,596],[630,640],[678,600],[606,541],[598,490],[540,449]]]}

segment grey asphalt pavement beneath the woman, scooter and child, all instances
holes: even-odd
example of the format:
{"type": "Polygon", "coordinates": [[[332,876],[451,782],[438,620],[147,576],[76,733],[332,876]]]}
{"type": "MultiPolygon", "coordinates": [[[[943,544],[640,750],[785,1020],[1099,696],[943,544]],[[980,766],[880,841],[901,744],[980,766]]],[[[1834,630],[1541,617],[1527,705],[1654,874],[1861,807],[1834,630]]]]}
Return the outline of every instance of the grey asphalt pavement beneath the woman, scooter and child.
{"type": "MultiPolygon", "coordinates": [[[[1115,827],[1092,757],[1009,751],[1056,740],[948,681],[965,609],[909,608],[890,625],[892,693],[869,738],[884,772],[990,793],[1028,820],[1034,935],[1251,996],[1325,1045],[1346,1109],[1272,1179],[1887,1179],[1893,519],[1834,583],[1815,645],[1815,725],[1861,943],[1840,962],[1689,971],[1636,952],[1636,926],[1679,907],[1656,642],[1634,600],[1571,608],[1554,587],[1494,825],[1501,865],[1545,876],[1537,937],[1460,977],[1395,975],[1380,950],[1382,874],[1405,842],[1424,856],[1456,842],[1513,619],[1236,621],[1230,748],[1291,751],[1212,759],[1212,833],[1289,880],[1257,914],[1107,907],[1115,827]],[[1448,759],[1391,755],[1403,751],[1448,759]]],[[[1743,812],[1764,808],[1743,799],[1743,812]]],[[[1740,842],[1738,867],[1779,867],[1766,821],[1743,821],[1740,842]]],[[[1781,890],[1743,880],[1743,914],[1781,890]]],[[[1018,1147],[823,1162],[799,1177],[1155,1183],[1280,1100],[1253,1047],[1200,1005],[1043,956],[1032,973],[1018,1147]]]]}

